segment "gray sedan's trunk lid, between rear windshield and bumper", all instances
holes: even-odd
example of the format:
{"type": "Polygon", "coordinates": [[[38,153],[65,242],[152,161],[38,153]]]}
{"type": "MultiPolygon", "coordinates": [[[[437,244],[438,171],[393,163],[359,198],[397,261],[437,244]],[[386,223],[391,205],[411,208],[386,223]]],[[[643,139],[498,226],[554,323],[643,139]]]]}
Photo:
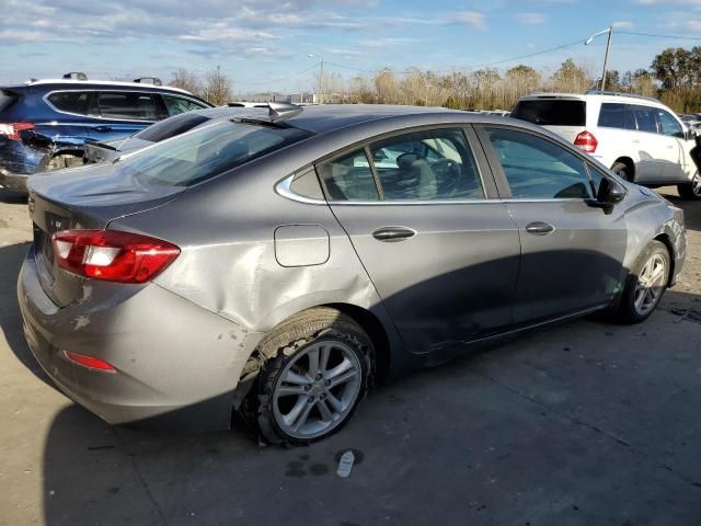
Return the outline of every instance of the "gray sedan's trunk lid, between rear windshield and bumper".
{"type": "Polygon", "coordinates": [[[37,174],[30,178],[28,207],[34,227],[34,253],[44,291],[59,307],[81,300],[89,293],[85,278],[62,270],[55,256],[51,236],[60,230],[102,230],[110,221],[170,203],[183,186],[147,185],[113,164],[37,174]]]}

